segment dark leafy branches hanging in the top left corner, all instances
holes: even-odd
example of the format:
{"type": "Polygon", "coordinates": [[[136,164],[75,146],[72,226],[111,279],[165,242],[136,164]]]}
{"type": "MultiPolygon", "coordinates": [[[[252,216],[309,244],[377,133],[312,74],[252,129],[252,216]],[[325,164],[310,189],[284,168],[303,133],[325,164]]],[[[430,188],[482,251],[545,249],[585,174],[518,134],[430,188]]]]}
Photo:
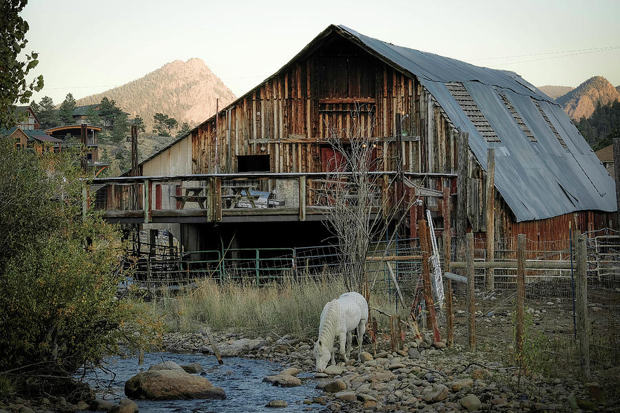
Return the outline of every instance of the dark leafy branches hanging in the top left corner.
{"type": "Polygon", "coordinates": [[[25,61],[18,60],[28,40],[28,23],[19,13],[26,0],[0,1],[0,127],[9,129],[21,121],[12,109],[15,103],[28,103],[32,92],[43,88],[43,76],[27,81],[30,70],[37,67],[38,54],[25,54],[25,61]]]}

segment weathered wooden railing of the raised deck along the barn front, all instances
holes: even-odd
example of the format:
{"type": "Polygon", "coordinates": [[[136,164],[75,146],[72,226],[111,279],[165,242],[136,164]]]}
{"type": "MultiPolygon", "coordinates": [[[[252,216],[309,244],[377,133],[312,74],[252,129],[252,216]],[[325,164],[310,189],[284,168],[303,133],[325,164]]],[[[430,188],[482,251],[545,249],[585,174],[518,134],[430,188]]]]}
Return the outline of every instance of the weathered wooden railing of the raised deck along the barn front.
{"type": "MultiPolygon", "coordinates": [[[[352,173],[338,173],[347,179],[352,173]]],[[[405,173],[409,179],[454,178],[453,174],[405,173]]],[[[371,172],[377,203],[390,202],[395,171],[371,172]]],[[[320,202],[333,173],[209,173],[177,176],[96,178],[84,193],[84,213],[104,211],[111,222],[220,222],[281,215],[286,220],[321,219],[320,202]],[[92,206],[90,202],[93,202],[92,206]]]]}

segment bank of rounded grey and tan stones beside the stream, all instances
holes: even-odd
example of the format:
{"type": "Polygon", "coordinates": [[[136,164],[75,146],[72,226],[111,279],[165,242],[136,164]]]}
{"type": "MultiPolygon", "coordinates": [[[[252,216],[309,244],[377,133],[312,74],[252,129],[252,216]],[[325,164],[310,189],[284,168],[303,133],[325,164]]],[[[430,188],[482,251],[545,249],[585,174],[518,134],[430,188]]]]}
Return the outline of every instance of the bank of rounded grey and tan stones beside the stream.
{"type": "MultiPolygon", "coordinates": [[[[313,371],[310,341],[293,337],[249,338],[237,334],[214,335],[220,353],[276,361],[289,368],[282,377],[269,378],[274,385],[295,385],[291,372],[313,371]],[[282,384],[284,383],[284,384],[282,384]]],[[[173,351],[212,354],[205,332],[175,333],[165,338],[173,351]]],[[[364,346],[370,349],[370,345],[364,346]]],[[[492,351],[506,351],[496,348],[492,351]]],[[[406,341],[402,350],[362,353],[362,361],[350,360],[315,374],[324,395],[304,400],[305,411],[342,412],[562,412],[612,411],[605,405],[606,389],[599,383],[583,385],[577,372],[562,378],[519,374],[501,363],[489,363],[486,352],[468,352],[461,346],[446,348],[425,335],[420,344],[406,341]]],[[[496,356],[497,354],[495,354],[496,356]]],[[[338,357],[337,357],[338,360],[338,357]]],[[[620,410],[619,410],[620,411],[620,410]]]]}

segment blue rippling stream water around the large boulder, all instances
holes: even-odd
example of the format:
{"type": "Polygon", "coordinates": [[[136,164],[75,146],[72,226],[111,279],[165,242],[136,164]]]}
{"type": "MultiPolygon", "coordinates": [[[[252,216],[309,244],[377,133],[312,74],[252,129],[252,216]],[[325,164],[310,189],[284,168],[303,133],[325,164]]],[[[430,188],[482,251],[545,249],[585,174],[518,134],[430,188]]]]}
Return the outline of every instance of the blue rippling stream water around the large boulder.
{"type": "Polygon", "coordinates": [[[162,360],[172,360],[178,364],[200,363],[205,377],[215,387],[221,387],[226,392],[226,400],[167,400],[167,401],[136,401],[141,412],[271,412],[274,409],[265,407],[269,401],[284,400],[288,407],[276,409],[278,412],[299,412],[302,410],[302,401],[311,399],[320,394],[316,389],[317,381],[312,379],[312,373],[300,373],[302,385],[293,388],[280,388],[262,379],[271,374],[277,374],[283,368],[276,363],[241,357],[226,357],[224,365],[220,366],[213,356],[202,354],[175,354],[156,352],[145,354],[144,365],[138,366],[138,358],[123,359],[110,357],[107,368],[116,374],[106,374],[101,370],[89,372],[85,379],[96,391],[97,397],[118,401],[125,397],[125,381],[138,372],[148,370],[149,366],[161,363],[162,360]]]}

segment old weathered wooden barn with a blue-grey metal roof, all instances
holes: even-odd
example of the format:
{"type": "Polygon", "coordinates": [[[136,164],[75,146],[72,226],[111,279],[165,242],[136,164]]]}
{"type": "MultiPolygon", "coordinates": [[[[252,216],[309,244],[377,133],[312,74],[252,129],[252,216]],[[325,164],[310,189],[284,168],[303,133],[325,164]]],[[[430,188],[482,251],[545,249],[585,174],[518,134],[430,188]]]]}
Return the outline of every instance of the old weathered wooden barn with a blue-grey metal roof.
{"type": "MultiPolygon", "coordinates": [[[[614,182],[554,100],[514,72],[342,25],[330,25],[278,72],[145,160],[139,174],[324,172],[330,133],[352,127],[352,112],[384,171],[409,173],[418,194],[451,189],[459,233],[484,237],[493,220],[495,237],[559,240],[568,238],[569,223],[581,231],[615,225],[614,182]]],[[[158,196],[175,202],[174,193],[158,196]]],[[[424,202],[442,215],[441,198],[424,202]]]]}

